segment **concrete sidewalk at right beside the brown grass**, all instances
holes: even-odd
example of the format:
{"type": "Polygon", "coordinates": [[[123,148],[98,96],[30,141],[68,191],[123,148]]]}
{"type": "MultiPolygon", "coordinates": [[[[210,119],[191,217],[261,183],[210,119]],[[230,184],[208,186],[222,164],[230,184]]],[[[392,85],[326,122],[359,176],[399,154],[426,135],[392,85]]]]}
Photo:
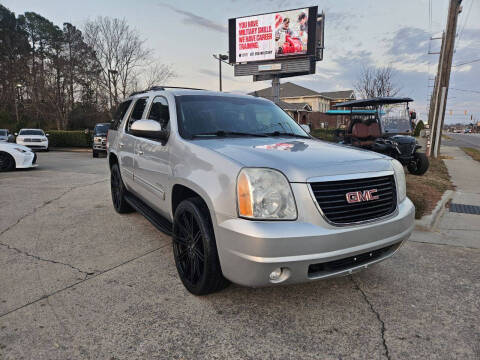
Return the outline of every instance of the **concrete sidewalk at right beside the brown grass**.
{"type": "MultiPolygon", "coordinates": [[[[446,158],[445,165],[456,187],[451,202],[480,206],[480,163],[458,147],[442,146],[441,154],[446,158]]],[[[429,237],[428,242],[480,248],[480,215],[445,209],[436,222],[433,233],[423,233],[429,237]]]]}

